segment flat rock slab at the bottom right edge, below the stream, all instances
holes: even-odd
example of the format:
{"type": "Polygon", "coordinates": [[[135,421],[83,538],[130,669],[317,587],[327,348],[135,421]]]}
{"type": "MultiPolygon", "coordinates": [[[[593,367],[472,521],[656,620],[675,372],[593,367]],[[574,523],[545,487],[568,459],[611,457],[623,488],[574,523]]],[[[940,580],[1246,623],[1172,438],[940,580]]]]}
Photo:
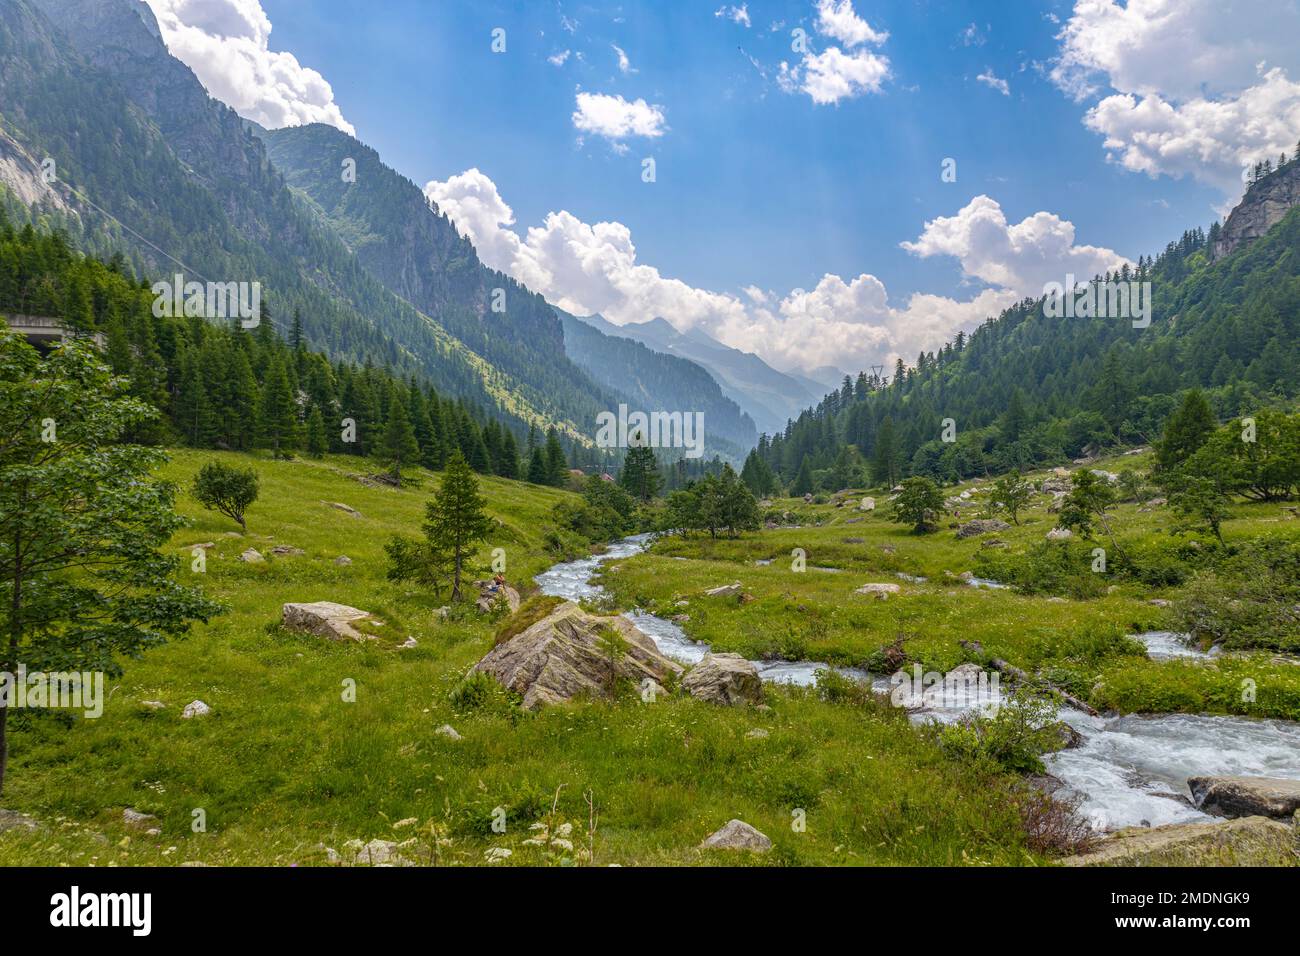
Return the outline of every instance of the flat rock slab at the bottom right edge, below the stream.
{"type": "Polygon", "coordinates": [[[1128,827],[1065,866],[1294,866],[1292,827],[1268,817],[1128,827]]]}

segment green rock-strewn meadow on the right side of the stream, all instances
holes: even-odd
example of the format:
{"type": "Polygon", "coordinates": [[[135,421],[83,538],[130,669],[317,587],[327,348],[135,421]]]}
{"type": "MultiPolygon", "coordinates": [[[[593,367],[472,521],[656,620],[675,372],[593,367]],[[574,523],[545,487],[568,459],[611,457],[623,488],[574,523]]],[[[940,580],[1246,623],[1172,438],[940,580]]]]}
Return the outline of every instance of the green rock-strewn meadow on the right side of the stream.
{"type": "MultiPolygon", "coordinates": [[[[1095,467],[1134,464],[1145,467],[1147,462],[1123,457],[1095,467]]],[[[945,493],[980,484],[989,483],[966,483],[945,493]]],[[[887,496],[879,492],[876,510],[859,511],[866,494],[846,496],[842,507],[829,501],[777,499],[771,511],[790,512],[800,527],[738,538],[662,538],[646,554],[606,566],[602,583],[619,605],[686,614],[682,628],[690,637],[750,658],[871,667],[879,663],[881,648],[902,637],[909,658],[928,670],[998,657],[1024,670],[1043,670],[1066,689],[1091,697],[1098,709],[1300,719],[1300,666],[1295,662],[1277,662],[1269,653],[1231,654],[1213,663],[1154,662],[1140,645],[1124,640],[1126,633],[1169,628],[1169,611],[1150,601],[1169,600],[1176,589],[1105,575],[1105,581],[1115,583],[1098,585],[1098,596],[1088,600],[970,587],[958,575],[978,572],[982,537],[959,540],[949,527],[914,535],[889,520],[887,496]],[[801,555],[802,571],[796,570],[801,555]],[[911,583],[900,574],[927,580],[911,583]],[[732,581],[740,581],[753,600],[702,594],[732,581]],[[901,593],[885,601],[854,593],[871,581],[898,584],[901,593]],[[677,606],[680,601],[688,606],[677,606]],[[963,648],[962,641],[978,641],[983,653],[963,648]],[[1254,700],[1243,700],[1247,678],[1256,684],[1254,700]]],[[[962,506],[961,522],[975,518],[985,499],[987,494],[976,492],[962,506]]],[[[985,537],[1004,541],[1008,553],[1043,541],[1056,524],[1046,511],[1049,499],[1036,496],[1019,525],[985,537]]],[[[1223,533],[1228,542],[1300,536],[1300,522],[1290,514],[1275,503],[1236,503],[1223,533]]],[[[1161,506],[1121,505],[1114,525],[1123,546],[1171,541],[1167,509],[1161,506]]],[[[1110,548],[1100,533],[1095,544],[1110,548]]]]}

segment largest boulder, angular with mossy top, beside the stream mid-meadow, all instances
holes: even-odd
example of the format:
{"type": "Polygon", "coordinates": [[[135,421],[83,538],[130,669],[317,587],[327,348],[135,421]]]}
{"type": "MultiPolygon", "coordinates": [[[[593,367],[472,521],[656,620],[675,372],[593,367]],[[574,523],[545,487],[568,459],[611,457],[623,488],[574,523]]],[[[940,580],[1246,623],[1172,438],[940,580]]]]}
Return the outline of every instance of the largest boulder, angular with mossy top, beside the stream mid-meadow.
{"type": "Polygon", "coordinates": [[[490,674],[524,696],[524,706],[559,704],[576,695],[608,695],[625,678],[637,687],[649,678],[663,684],[681,665],[659,653],[655,643],[624,617],[589,614],[572,601],[488,652],[474,671],[490,674]],[[610,636],[623,639],[610,653],[610,636]]]}

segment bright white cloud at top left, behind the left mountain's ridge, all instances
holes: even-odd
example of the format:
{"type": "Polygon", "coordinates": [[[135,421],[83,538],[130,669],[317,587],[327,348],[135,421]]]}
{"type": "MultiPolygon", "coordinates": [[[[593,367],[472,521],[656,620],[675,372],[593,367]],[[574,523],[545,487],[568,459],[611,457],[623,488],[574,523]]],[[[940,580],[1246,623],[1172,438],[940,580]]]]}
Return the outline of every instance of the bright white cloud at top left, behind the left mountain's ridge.
{"type": "Polygon", "coordinates": [[[240,116],[269,129],[325,122],[356,133],[320,73],[270,49],[270,20],[260,0],[147,3],[172,55],[240,116]]]}

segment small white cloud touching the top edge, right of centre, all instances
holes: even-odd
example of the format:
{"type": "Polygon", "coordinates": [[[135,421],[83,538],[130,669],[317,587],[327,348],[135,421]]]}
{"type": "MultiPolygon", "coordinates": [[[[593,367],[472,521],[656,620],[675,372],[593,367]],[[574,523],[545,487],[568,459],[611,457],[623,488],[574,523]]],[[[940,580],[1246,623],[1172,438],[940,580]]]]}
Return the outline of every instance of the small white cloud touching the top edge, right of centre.
{"type": "Polygon", "coordinates": [[[833,104],[864,94],[880,92],[889,78],[889,59],[863,44],[879,46],[889,39],[854,12],[852,0],[819,0],[816,29],[823,36],[842,43],[849,52],[828,46],[820,53],[803,52],[800,62],[781,62],[776,82],[785,92],[805,92],[816,104],[833,104]]]}

